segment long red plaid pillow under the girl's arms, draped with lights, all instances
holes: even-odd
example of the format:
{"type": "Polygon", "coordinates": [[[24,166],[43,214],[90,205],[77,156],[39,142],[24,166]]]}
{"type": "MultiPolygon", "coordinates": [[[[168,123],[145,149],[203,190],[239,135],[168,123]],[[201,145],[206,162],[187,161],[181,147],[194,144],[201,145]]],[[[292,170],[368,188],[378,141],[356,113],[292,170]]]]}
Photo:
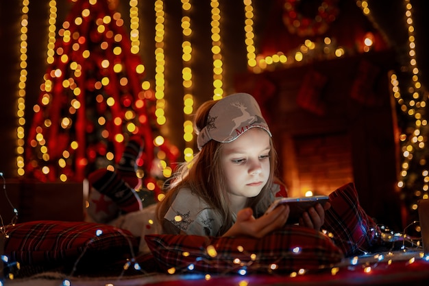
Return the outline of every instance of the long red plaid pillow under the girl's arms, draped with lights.
{"type": "Polygon", "coordinates": [[[160,267],[169,272],[316,270],[343,257],[328,237],[296,225],[262,239],[197,235],[146,235],[145,239],[160,267]]]}

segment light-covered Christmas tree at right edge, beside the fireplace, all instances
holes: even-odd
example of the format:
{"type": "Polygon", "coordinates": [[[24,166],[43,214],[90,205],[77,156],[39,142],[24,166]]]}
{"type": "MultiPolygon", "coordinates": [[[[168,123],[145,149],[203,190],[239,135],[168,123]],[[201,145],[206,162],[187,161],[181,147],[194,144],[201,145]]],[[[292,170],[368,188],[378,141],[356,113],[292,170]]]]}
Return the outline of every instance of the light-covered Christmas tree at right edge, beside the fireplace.
{"type": "Polygon", "coordinates": [[[408,208],[407,224],[419,222],[419,200],[429,198],[428,91],[412,78],[416,79],[417,76],[407,71],[391,75],[401,131],[398,187],[408,208]]]}

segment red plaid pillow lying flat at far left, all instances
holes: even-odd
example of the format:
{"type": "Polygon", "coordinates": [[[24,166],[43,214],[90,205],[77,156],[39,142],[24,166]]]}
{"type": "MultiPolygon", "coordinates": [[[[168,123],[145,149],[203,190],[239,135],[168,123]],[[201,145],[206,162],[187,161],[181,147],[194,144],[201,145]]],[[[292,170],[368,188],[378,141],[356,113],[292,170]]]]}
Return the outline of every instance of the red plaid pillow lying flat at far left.
{"type": "Polygon", "coordinates": [[[74,262],[81,254],[82,263],[114,260],[138,250],[136,237],[106,224],[35,221],[6,226],[5,233],[5,255],[23,265],[74,262]]]}

